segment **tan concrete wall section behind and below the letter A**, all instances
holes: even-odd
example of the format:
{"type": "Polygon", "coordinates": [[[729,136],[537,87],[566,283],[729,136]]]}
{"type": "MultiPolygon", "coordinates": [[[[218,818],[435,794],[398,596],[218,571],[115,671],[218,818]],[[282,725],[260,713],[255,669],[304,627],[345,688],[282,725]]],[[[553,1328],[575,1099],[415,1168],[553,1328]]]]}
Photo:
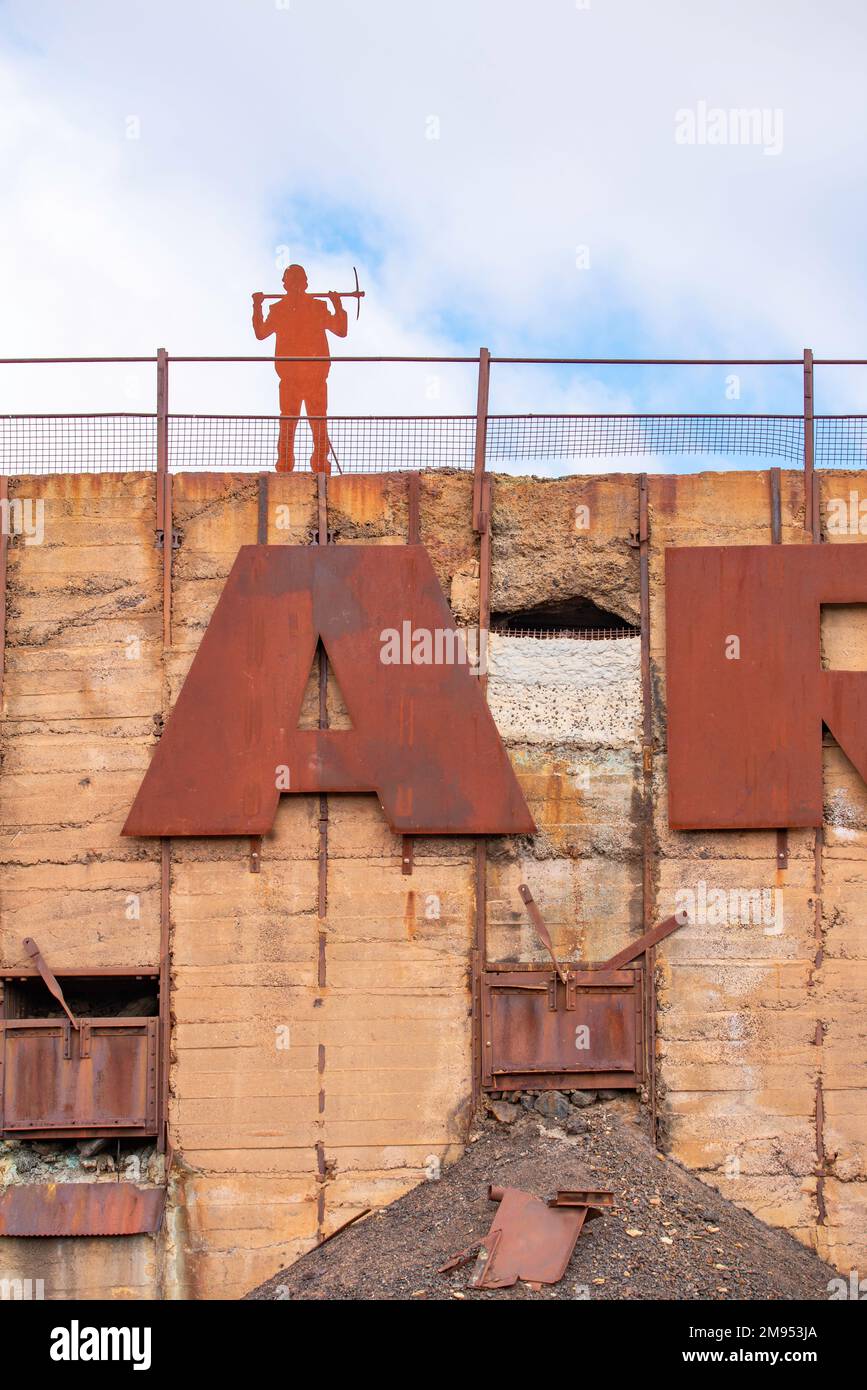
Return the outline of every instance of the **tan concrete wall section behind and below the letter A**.
{"type": "MultiPolygon", "coordinates": [[[[463,492],[445,516],[422,510],[443,578],[472,550],[463,492]]],[[[256,539],[257,482],[182,475],[174,507],[172,701],[239,546],[256,539]]],[[[407,520],[402,480],[329,484],[339,543],[400,545],[407,520]]],[[[270,543],[304,543],[315,524],[314,480],[270,480],[270,543]]],[[[258,874],[246,841],[172,848],[178,1241],[195,1294],[251,1287],[417,1183],[465,1131],[468,842],[420,844],[407,878],[375,798],[331,798],[325,919],[318,852],[313,796],[282,799],[258,874]]]]}

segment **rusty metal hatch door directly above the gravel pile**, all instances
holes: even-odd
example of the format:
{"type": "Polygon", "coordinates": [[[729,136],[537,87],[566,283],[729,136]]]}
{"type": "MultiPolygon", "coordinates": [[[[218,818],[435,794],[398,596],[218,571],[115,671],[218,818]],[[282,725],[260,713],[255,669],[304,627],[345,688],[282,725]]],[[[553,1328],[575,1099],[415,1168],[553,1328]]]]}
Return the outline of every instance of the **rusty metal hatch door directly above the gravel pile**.
{"type": "Polygon", "coordinates": [[[629,1088],[643,1080],[643,970],[489,970],[482,979],[490,1090],[629,1088]]]}

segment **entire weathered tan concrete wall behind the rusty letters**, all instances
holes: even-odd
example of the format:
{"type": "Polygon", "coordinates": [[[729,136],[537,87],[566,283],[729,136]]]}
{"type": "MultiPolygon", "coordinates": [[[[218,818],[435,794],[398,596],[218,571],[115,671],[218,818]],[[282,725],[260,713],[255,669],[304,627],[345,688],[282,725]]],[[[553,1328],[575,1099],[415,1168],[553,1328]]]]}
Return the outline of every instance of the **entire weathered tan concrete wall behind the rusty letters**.
{"type": "MultiPolygon", "coordinates": [[[[784,539],[803,542],[800,478],[782,478],[784,539]]],[[[827,496],[864,485],[860,475],[823,481],[827,496]]],[[[44,500],[44,541],[10,548],[0,959],[21,963],[31,934],[56,970],[154,965],[158,845],[122,840],[119,828],[238,548],[256,539],[257,481],[175,477],[181,545],[165,653],[154,478],[19,478],[10,491],[44,500]]],[[[314,513],[308,475],[270,480],[271,543],[306,542],[314,513]]],[[[470,478],[422,477],[422,541],[467,623],[478,617],[470,517],[470,478]]],[[[403,543],[406,482],[332,478],[329,525],[340,545],[403,543]]],[[[636,525],[634,475],[497,478],[493,610],[579,595],[636,623],[636,525]],[[575,525],[584,506],[586,530],[575,525]]],[[[829,745],[817,967],[813,833],[792,833],[789,869],[778,872],[773,833],[675,834],[666,816],[663,550],[770,541],[768,477],[652,478],[650,525],[656,916],[699,880],[781,887],[785,903],[779,935],[691,927],[660,951],[666,1145],[841,1268],[863,1266],[867,790],[829,745]]],[[[827,639],[857,666],[867,635],[856,628],[843,623],[827,639]]],[[[489,655],[490,708],[539,826],[532,841],[489,841],[490,958],[540,959],[517,897],[522,880],[563,954],[604,958],[642,931],[638,642],[495,637],[489,655]]],[[[338,692],[332,712],[339,721],[338,692]]],[[[44,1277],[47,1297],[236,1297],[460,1152],[472,845],[417,841],[404,877],[400,842],[372,796],[332,796],[329,815],[324,920],[314,798],[282,798],[258,874],[246,841],[172,842],[165,1232],[157,1241],[4,1241],[0,1275],[44,1277]]],[[[3,1177],[26,1180],[15,1150],[0,1150],[3,1177]]]]}

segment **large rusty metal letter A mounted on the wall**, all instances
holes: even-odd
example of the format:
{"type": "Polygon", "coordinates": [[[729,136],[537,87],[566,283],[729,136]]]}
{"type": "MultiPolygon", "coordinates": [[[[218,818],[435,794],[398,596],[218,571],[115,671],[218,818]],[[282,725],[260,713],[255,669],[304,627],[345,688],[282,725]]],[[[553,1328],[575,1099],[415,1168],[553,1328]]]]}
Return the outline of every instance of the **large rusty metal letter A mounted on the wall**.
{"type": "Polygon", "coordinates": [[[531,834],[453,637],[421,545],[243,546],[124,834],[261,835],[286,787],[375,791],[400,834],[531,834]],[[389,630],[429,638],[383,662],[389,630]],[[297,728],[318,638],[350,730],[297,728]]]}

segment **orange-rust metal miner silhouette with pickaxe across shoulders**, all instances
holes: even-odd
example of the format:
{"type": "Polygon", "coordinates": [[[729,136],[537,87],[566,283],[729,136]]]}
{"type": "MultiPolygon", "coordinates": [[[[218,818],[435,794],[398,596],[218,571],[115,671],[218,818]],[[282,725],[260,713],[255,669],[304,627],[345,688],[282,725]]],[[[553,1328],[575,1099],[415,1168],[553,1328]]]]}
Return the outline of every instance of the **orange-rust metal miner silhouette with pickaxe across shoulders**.
{"type": "Polygon", "coordinates": [[[320,293],[308,291],[307,272],[303,265],[286,267],[283,271],[283,289],[285,295],[265,295],[261,292],[253,295],[253,332],[260,341],[270,338],[271,334],[276,335],[275,359],[320,357],[322,360],[275,360],[274,363],[276,375],[279,377],[281,411],[276,471],[290,473],[295,468],[295,431],[302,406],[304,406],[313,434],[310,467],[314,473],[331,473],[328,455],[329,452],[333,455],[333,449],[328,438],[327,421],[331,353],[325,335],[333,334],[335,338],[346,338],[346,310],[340,300],[354,299],[360,310],[364,291],[358,289],[357,271],[354,289],[329,289],[320,293]],[[263,303],[265,299],[274,299],[276,303],[263,317],[263,303]],[[322,303],[325,299],[331,302],[331,311],[322,303]]]}

